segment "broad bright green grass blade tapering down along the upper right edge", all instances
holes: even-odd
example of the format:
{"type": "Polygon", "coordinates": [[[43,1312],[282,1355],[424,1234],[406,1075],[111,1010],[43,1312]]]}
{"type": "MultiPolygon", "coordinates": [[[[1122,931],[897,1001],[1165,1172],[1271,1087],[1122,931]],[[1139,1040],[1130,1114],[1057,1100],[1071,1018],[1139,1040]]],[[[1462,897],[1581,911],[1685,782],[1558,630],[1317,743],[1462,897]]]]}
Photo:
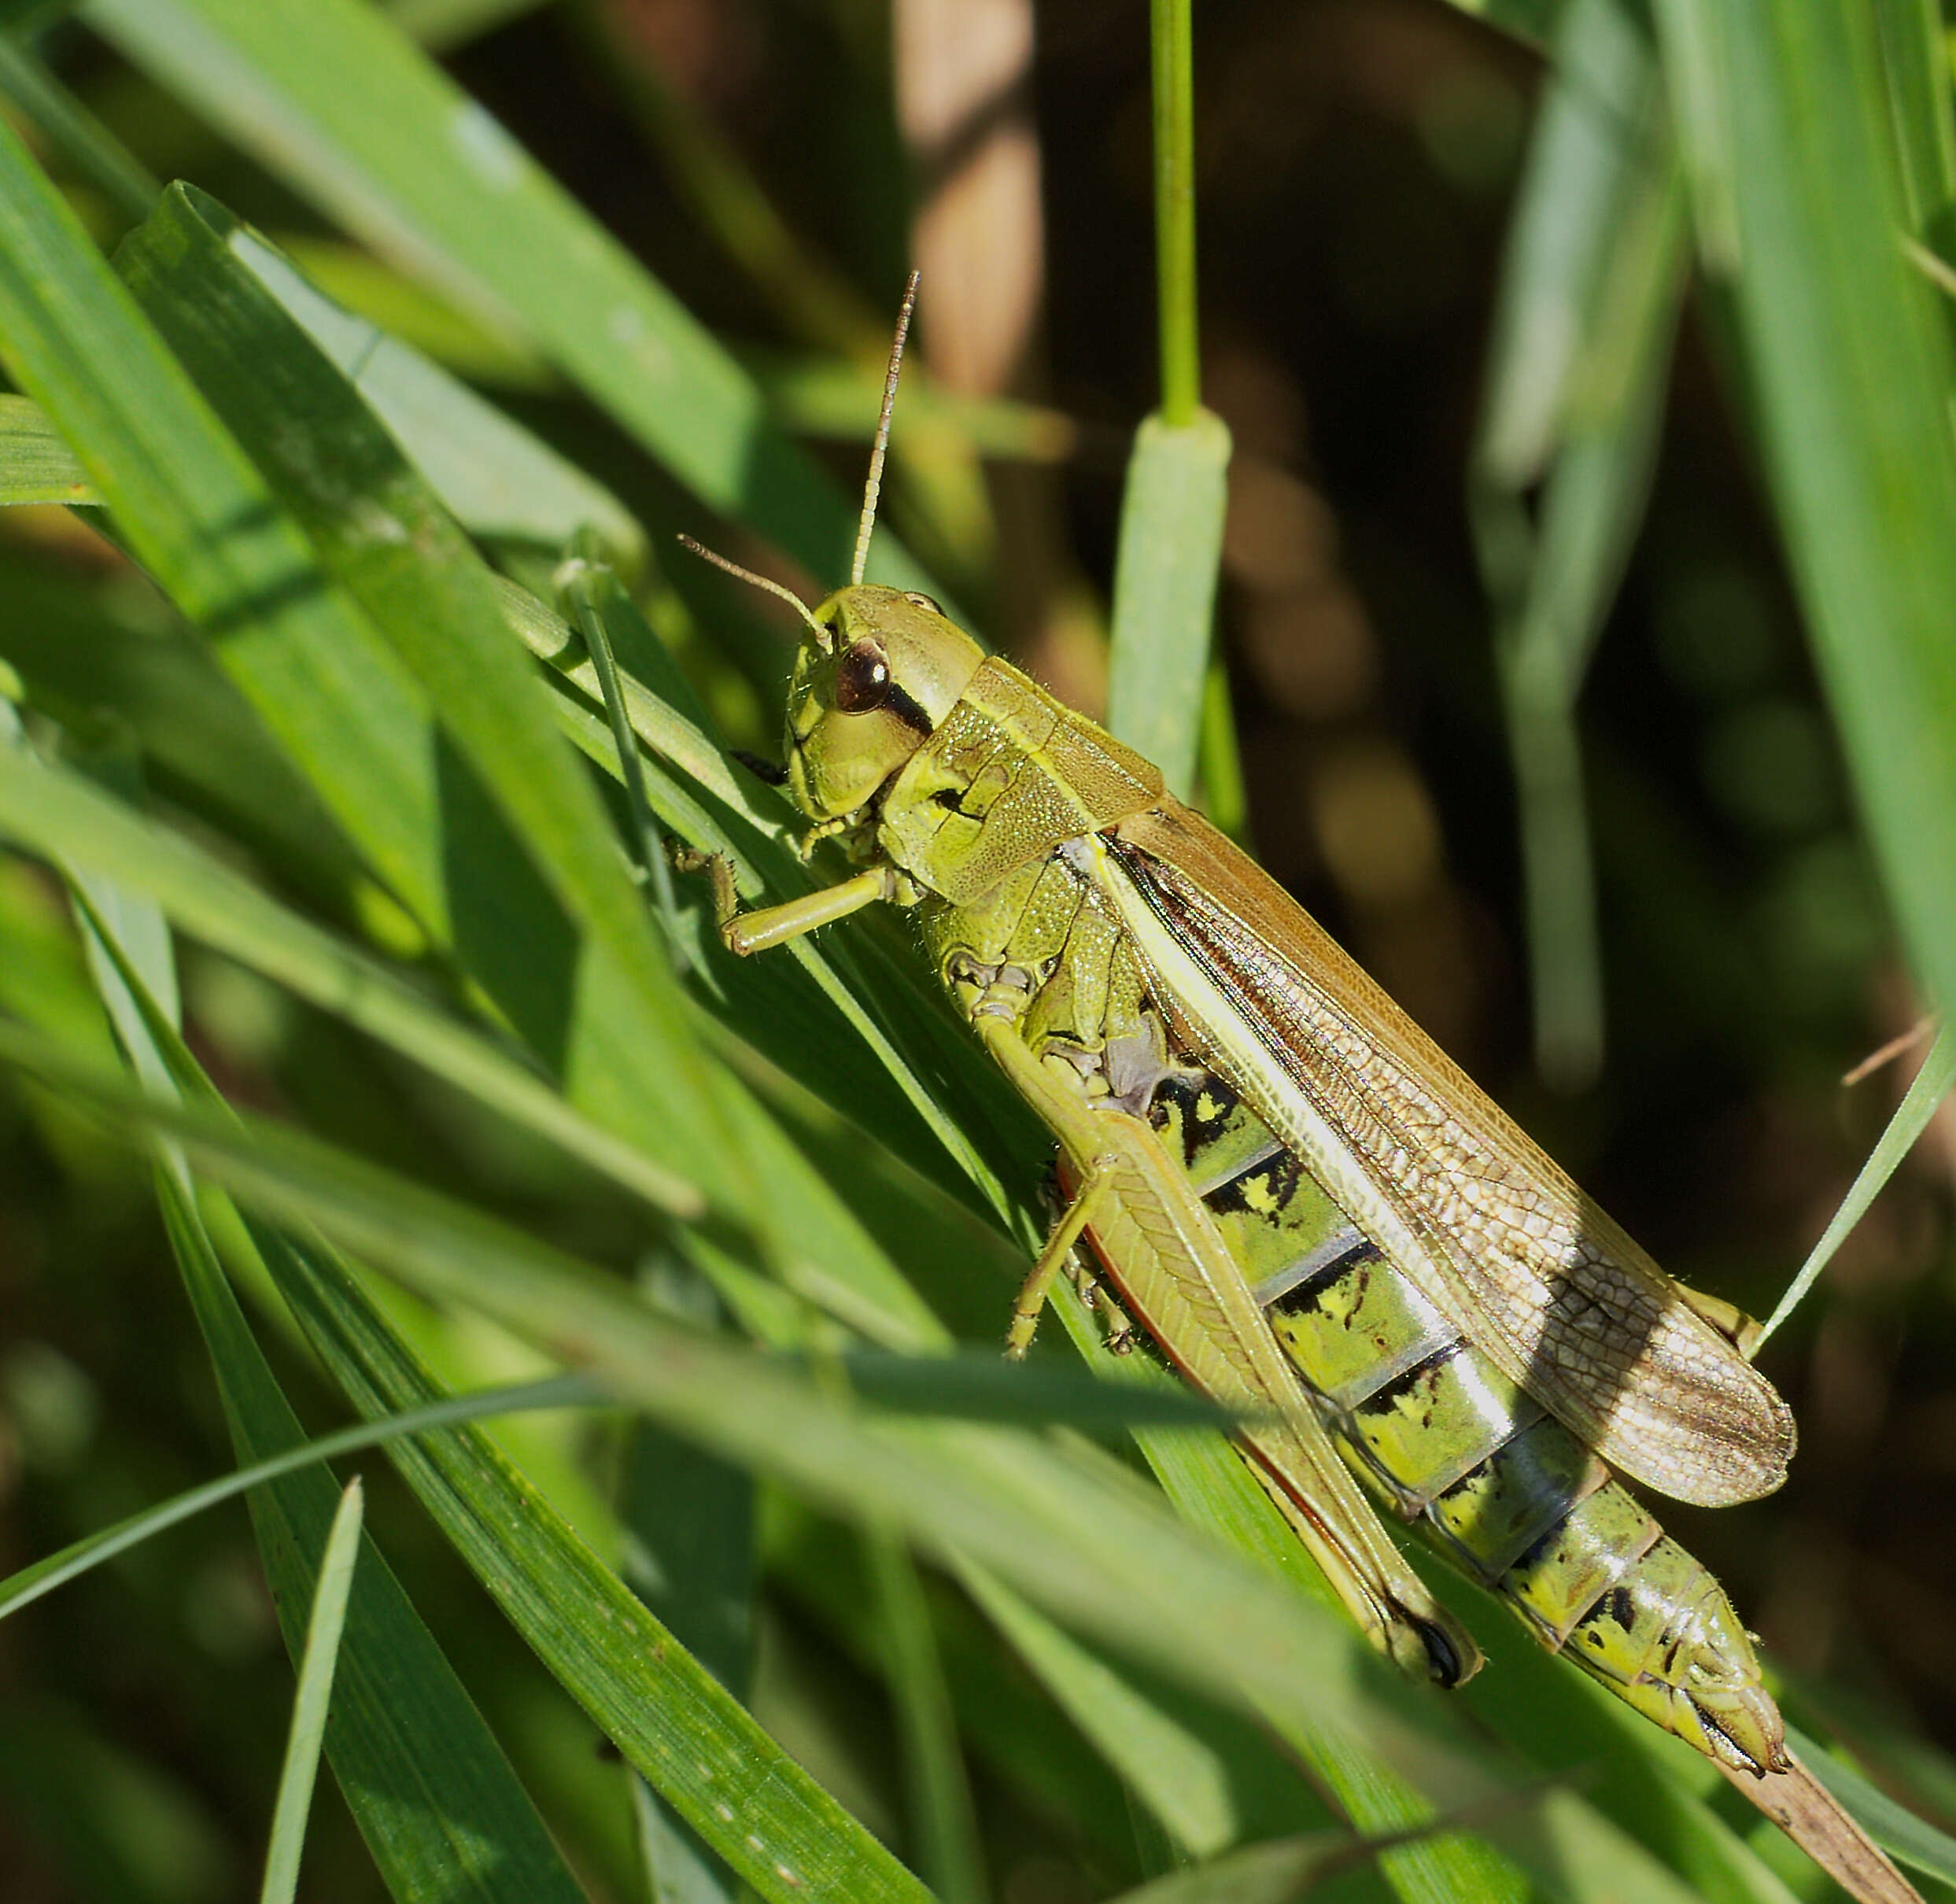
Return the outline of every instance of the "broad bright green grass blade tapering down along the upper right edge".
{"type": "Polygon", "coordinates": [[[1907,211],[1870,14],[1735,0],[1725,27],[1737,315],[1766,477],[1903,945],[1923,986],[1950,1000],[1948,333],[1901,256],[1907,211]]]}

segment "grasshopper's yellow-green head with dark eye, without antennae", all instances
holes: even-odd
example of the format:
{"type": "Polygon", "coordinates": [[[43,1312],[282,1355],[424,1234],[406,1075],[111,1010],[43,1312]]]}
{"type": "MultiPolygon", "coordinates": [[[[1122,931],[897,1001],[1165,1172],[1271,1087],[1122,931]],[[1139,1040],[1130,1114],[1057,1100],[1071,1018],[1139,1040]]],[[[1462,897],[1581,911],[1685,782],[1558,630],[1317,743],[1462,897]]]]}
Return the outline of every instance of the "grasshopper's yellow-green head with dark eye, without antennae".
{"type": "Polygon", "coordinates": [[[837,589],[816,609],[788,683],[794,804],[812,820],[867,806],[956,706],[980,661],[984,650],[929,595],[837,589]]]}

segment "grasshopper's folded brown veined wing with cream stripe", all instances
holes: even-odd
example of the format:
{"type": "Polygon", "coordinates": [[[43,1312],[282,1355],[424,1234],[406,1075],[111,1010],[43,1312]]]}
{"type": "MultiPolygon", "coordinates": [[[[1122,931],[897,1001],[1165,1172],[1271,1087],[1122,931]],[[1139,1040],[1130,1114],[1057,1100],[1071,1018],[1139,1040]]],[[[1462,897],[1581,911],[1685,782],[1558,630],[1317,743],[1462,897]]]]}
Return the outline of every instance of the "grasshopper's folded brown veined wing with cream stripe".
{"type": "Polygon", "coordinates": [[[1678,1501],[1786,1479],[1792,1413],[1737,1315],[1665,1276],[1269,875],[1174,800],[1103,838],[1179,1035],[1510,1380],[1678,1501]]]}

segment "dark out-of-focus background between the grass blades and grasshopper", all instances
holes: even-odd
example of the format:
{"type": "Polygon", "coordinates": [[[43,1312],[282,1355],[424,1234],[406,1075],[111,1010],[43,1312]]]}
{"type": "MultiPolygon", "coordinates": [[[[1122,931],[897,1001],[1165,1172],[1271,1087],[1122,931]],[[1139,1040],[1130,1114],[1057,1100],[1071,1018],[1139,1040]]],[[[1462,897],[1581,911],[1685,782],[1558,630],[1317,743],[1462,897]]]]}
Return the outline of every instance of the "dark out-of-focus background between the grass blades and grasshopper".
{"type": "MultiPolygon", "coordinates": [[[[892,20],[880,0],[407,0],[393,14],[735,354],[841,493],[859,481],[915,260],[925,278],[884,522],[994,646],[1103,710],[1123,464],[1158,401],[1140,8],[900,0],[892,20]]],[[[8,115],[98,241],[141,219],[147,180],[194,180],[333,297],[475,384],[644,524],[653,556],[638,589],[653,628],[732,744],[778,751],[782,618],[663,550],[685,528],[814,595],[839,573],[784,564],[765,524],[710,513],[647,456],[644,429],[591,401],[589,372],[530,313],[499,321],[493,288],[450,272],[407,221],[389,247],[385,211],[331,215],[331,190],[295,180],[303,127],[280,125],[172,10],[147,23],[141,0],[4,16],[8,115]],[[174,55],[158,51],[172,35],[174,55]],[[172,57],[201,67],[201,86],[172,57]],[[49,80],[61,94],[37,90],[49,80]]],[[[1929,23],[1923,8],[1884,18],[1901,16],[1929,23]]],[[[1620,31],[1649,27],[1637,10],[1623,18],[1620,31]]],[[[1541,35],[1555,16],[1510,10],[1510,23],[1541,35]]],[[[1948,43],[1934,25],[1946,123],[1948,43]]],[[[1594,70],[1563,67],[1565,112],[1623,141],[1631,190],[1596,188],[1580,153],[1543,159],[1539,47],[1440,0],[1230,0],[1201,10],[1195,45],[1203,397],[1234,438],[1217,609],[1232,720],[1205,730],[1205,794],[1659,1260],[1766,1313],[1927,1039],[1850,1086],[1843,1072],[1917,1025],[1927,1002],[1803,634],[1762,450],[1784,442],[1762,434],[1766,372],[1731,280],[1688,262],[1708,243],[1706,213],[1680,209],[1668,135],[1639,92],[1649,47],[1612,55],[1604,33],[1582,55],[1594,70]],[[1516,317],[1518,233],[1555,231],[1557,184],[1565,219],[1590,219],[1594,237],[1602,207],[1604,239],[1622,239],[1588,278],[1571,272],[1580,295],[1565,286],[1563,333],[1555,309],[1535,309],[1535,329],[1516,317]],[[1659,237],[1625,262],[1645,225],[1659,237]],[[1641,276],[1602,290],[1612,270],[1641,276]],[[1606,329],[1598,311],[1622,317],[1637,297],[1655,313],[1647,327],[1598,344],[1602,368],[1584,358],[1578,395],[1543,399],[1561,405],[1557,427],[1530,438],[1526,417],[1496,415],[1490,364],[1508,376],[1555,364],[1571,335],[1588,350],[1606,329]],[[1594,599],[1567,636],[1565,654],[1594,642],[1571,783],[1543,765],[1553,720],[1547,751],[1528,753],[1498,630],[1528,599],[1514,536],[1545,534],[1555,456],[1612,419],[1631,440],[1612,438],[1622,495],[1584,571],[1594,599]],[[1543,773],[1534,873],[1516,749],[1524,779],[1530,759],[1543,773]]],[[[360,84],[344,74],[354,113],[360,84]]],[[[356,204],[358,166],[333,190],[356,204]]],[[[1934,221],[1921,229],[1933,245],[1934,221]]],[[[1543,256],[1567,258],[1573,243],[1565,233],[1543,256]]],[[[600,350],[602,325],[591,329],[600,350]]],[[[1526,411],[1526,399],[1524,387],[1514,401],[1526,411]]],[[[812,532],[790,554],[812,560],[818,544],[812,532]]],[[[542,589],[550,562],[534,548],[526,560],[505,567],[542,589]]],[[[1956,628],[1956,601],[1942,626],[1956,628]]],[[[415,929],[342,863],[325,808],[256,716],[243,703],[213,710],[219,677],[180,650],[168,609],[78,515],[0,513],[0,659],[35,712],[67,728],[74,757],[111,785],[117,763],[141,759],[174,824],[256,865],[286,900],[415,953],[415,929]],[[196,720],[180,697],[198,699],[196,720]],[[227,732],[239,751],[213,771],[207,749],[227,732]]],[[[59,886],[37,863],[0,859],[0,1008],[106,1061],[59,886]]],[[[182,980],[190,1043],[233,1102],[593,1260],[644,1250],[640,1211],[616,1188],[593,1188],[336,1020],[190,945],[182,980]]],[[[902,1256],[921,1207],[986,1264],[931,1293],[960,1337],[996,1337],[1009,1245],[904,1164],[867,1158],[778,1072],[767,1088],[808,1155],[853,1176],[878,1241],[902,1256]]],[[[1037,1156],[1037,1143],[1021,1131],[1005,1151],[1037,1156]]],[[[1909,1744],[1919,1728],[1956,1745],[1952,1172],[1944,1108],[1770,1344],[1801,1432],[1786,1491],[1725,1515],[1665,1511],[1792,1677],[1801,1716],[1870,1728],[1891,1783],[1913,1771],[1901,1789],[1931,1810],[1956,1794],[1946,1761],[1909,1744]]],[[[1021,1176],[1009,1188],[1029,1198],[1021,1176]]],[[[458,1380],[542,1368],[485,1323],[401,1303],[397,1323],[458,1380]]],[[[276,1325],[266,1342],[301,1413],[334,1425],[311,1356],[276,1325]]],[[[552,1415],[503,1438],[600,1546],[612,1538],[616,1423],[552,1415]]],[[[231,1460],[147,1170],[70,1104],[0,1076],[0,1575],[231,1460]]],[[[378,1460],[364,1472],[370,1524],[579,1879],[595,1896],[640,1894],[626,1787],[595,1730],[511,1644],[405,1489],[378,1460]]],[[[851,1624],[863,1554],[837,1522],[773,1495],[759,1540],[753,1710],[915,1861],[900,1728],[851,1624]]],[[[996,1896],[1062,1904],[1138,1881],[1146,1853],[1113,1775],[1084,1755],[1064,1773],[1045,1763],[1056,1732],[1019,1716],[1039,1699],[1031,1679],[988,1687],[996,1642],[945,1577],[927,1589],[955,1700],[986,1706],[962,1724],[996,1896]],[[1015,1765],[1013,1738],[1025,1740],[1015,1765]],[[1070,1794],[1052,1798],[1062,1785],[1070,1794]]],[[[1498,1614],[1477,1614],[1477,1628],[1496,1671],[1524,1644],[1498,1614]]],[[[0,1900],[244,1896],[289,1693],[235,1507],[0,1624],[0,1900]]],[[[385,1894],[331,1781],[301,1894],[385,1894]]]]}

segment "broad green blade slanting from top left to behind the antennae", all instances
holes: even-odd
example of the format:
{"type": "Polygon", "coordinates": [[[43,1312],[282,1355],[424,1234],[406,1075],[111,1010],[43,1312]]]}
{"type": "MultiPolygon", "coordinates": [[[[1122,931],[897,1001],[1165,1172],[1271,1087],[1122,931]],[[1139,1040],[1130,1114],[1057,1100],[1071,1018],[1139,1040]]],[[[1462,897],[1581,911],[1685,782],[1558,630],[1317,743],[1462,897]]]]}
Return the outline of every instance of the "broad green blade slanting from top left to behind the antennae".
{"type": "MultiPolygon", "coordinates": [[[[747,376],[379,12],[90,0],[84,18],[376,250],[530,340],[710,509],[847,573],[855,509],[747,376]]],[[[931,587],[888,538],[878,567],[931,587]]]]}

